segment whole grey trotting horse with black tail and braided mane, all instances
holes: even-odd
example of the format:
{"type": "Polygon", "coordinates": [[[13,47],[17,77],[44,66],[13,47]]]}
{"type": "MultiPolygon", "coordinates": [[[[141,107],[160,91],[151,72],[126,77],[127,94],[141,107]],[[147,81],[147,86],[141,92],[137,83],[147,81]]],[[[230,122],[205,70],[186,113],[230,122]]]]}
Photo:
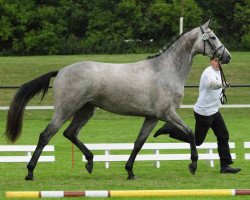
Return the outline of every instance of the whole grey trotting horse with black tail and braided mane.
{"type": "Polygon", "coordinates": [[[53,83],[54,115],[40,134],[25,179],[33,180],[33,171],[43,148],[72,116],[73,120],[63,135],[85,155],[85,167],[91,173],[93,154],[77,136],[97,107],[115,114],[145,117],[125,166],[128,179],[135,179],[135,158],[159,120],[187,134],[192,161],[189,170],[194,174],[198,159],[194,135],[176,113],[184,95],[184,85],[195,55],[218,57],[222,63],[229,63],[231,59],[229,51],[208,26],[209,21],[181,35],[155,58],[128,64],[79,62],[23,84],[8,112],[5,134],[10,142],[15,142],[21,135],[23,113],[29,100],[40,93],[43,98],[50,79],[56,77],[53,83]]]}

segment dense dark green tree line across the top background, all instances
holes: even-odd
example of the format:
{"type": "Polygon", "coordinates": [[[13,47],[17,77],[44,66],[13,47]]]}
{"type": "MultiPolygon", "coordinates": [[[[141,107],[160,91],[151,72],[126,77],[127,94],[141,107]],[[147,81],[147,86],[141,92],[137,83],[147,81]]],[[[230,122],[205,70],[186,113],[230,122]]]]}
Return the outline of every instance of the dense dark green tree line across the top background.
{"type": "Polygon", "coordinates": [[[230,50],[250,50],[248,0],[0,0],[0,55],[158,51],[208,19],[230,50]]]}

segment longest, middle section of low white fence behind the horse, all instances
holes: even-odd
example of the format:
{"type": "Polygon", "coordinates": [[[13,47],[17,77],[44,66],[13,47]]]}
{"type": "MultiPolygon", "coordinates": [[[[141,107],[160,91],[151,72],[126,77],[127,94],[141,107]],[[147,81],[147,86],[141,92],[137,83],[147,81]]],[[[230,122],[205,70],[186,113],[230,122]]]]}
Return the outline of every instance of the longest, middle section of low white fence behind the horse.
{"type": "MultiPolygon", "coordinates": [[[[127,161],[129,154],[121,154],[121,150],[131,150],[133,143],[107,143],[107,144],[86,144],[91,151],[104,151],[102,155],[95,155],[94,161],[105,162],[105,167],[109,168],[110,162],[127,161]],[[111,151],[113,154],[111,154],[111,151]],[[118,152],[118,153],[117,153],[118,152]]],[[[229,143],[230,149],[235,148],[235,143],[229,143]]],[[[214,167],[214,160],[219,160],[219,155],[214,152],[217,149],[217,143],[207,142],[201,146],[197,146],[198,150],[205,150],[205,153],[199,153],[199,160],[206,160],[211,167],[214,167]]],[[[155,161],[155,166],[160,167],[160,161],[163,160],[190,160],[190,145],[188,143],[145,143],[142,150],[152,150],[153,153],[143,153],[140,151],[136,157],[136,161],[155,161]],[[160,150],[188,150],[185,153],[160,153],[160,150]]],[[[232,159],[236,159],[236,154],[231,153],[232,159]]],[[[83,161],[85,157],[83,156],[83,161]]]]}

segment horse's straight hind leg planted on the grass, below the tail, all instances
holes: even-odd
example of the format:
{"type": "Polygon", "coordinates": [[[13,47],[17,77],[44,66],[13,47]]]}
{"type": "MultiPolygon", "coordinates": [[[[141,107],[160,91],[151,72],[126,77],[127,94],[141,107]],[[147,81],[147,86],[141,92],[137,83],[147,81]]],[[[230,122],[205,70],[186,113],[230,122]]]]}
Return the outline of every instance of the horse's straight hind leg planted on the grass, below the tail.
{"type": "Polygon", "coordinates": [[[49,125],[40,134],[37,147],[27,165],[28,175],[25,177],[26,180],[33,180],[33,171],[36,167],[37,161],[42,153],[43,148],[49,143],[50,139],[53,137],[53,135],[56,134],[56,132],[60,129],[65,121],[66,119],[63,120],[57,115],[54,115],[49,125]]]}

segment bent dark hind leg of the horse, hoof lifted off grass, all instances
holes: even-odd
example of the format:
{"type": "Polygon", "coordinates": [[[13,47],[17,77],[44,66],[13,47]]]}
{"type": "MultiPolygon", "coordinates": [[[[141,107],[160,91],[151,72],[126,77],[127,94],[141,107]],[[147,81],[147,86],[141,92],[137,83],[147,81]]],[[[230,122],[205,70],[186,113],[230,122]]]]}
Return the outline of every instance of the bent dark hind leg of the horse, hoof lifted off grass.
{"type": "Polygon", "coordinates": [[[69,127],[63,132],[63,135],[74,143],[85,155],[88,161],[85,165],[89,173],[93,170],[93,154],[91,151],[77,138],[81,128],[89,121],[94,114],[95,107],[89,104],[84,105],[78,112],[75,113],[69,127]]]}

